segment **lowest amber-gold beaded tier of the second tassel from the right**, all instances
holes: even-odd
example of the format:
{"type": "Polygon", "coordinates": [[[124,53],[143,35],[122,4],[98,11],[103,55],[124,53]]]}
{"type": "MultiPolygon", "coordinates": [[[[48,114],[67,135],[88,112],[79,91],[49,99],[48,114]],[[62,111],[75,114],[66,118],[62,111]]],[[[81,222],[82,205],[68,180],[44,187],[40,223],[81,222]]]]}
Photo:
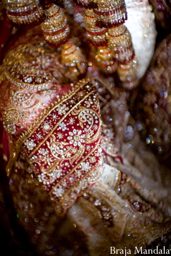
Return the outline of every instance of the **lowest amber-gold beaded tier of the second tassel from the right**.
{"type": "Polygon", "coordinates": [[[111,74],[116,71],[118,62],[113,59],[110,48],[103,46],[96,49],[96,61],[98,67],[104,73],[111,74]]]}

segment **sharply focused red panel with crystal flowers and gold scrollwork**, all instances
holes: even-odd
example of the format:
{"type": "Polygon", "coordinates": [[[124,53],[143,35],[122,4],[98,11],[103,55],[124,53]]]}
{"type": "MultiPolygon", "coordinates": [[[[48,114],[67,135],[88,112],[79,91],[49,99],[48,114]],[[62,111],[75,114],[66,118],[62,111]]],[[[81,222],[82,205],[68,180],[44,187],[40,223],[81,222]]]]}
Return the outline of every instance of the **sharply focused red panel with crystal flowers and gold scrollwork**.
{"type": "Polygon", "coordinates": [[[28,161],[50,200],[63,211],[103,172],[96,90],[91,83],[79,86],[52,106],[25,139],[17,161],[28,161]]]}

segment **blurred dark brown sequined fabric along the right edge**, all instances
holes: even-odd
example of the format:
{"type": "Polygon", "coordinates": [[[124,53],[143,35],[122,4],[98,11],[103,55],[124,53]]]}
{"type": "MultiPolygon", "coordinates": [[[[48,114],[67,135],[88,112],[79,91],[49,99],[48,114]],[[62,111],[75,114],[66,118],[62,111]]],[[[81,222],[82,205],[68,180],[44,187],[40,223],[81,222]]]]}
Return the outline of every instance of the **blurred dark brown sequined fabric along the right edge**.
{"type": "Polygon", "coordinates": [[[158,156],[170,154],[170,47],[171,36],[154,53],[135,103],[142,137],[158,156]]]}

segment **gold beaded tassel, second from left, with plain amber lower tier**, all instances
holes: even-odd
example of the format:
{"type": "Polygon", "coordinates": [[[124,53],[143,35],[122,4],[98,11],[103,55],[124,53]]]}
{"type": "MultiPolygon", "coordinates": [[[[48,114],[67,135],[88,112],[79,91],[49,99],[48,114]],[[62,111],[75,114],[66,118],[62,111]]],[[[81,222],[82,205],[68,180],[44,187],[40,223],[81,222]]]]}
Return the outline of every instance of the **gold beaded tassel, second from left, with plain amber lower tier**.
{"type": "Polygon", "coordinates": [[[70,31],[63,9],[52,4],[45,14],[46,20],[41,24],[45,39],[52,46],[61,46],[61,64],[67,68],[65,78],[75,82],[87,70],[85,56],[78,46],[68,42],[70,31]]]}

